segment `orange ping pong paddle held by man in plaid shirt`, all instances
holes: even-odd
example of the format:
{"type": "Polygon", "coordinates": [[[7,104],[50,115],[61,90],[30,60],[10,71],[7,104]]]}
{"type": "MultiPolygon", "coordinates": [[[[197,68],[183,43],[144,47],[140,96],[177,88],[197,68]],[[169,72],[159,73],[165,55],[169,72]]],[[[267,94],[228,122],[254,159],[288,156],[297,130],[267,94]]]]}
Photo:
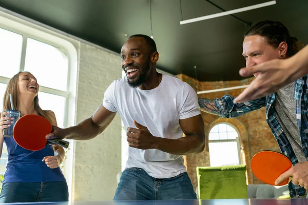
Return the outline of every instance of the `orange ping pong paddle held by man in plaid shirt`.
{"type": "MultiPolygon", "coordinates": [[[[275,186],[275,180],[292,167],[292,161],[285,155],[275,151],[261,151],[251,160],[254,175],[262,182],[275,186]]],[[[279,186],[286,185],[288,179],[279,186]]]]}

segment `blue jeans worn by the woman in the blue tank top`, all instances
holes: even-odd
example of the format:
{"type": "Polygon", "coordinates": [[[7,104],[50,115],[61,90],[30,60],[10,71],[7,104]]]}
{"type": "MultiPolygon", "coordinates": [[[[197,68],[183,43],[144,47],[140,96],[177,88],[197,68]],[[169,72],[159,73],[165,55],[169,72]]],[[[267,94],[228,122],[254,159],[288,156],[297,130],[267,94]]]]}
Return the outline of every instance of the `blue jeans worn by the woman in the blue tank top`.
{"type": "Polygon", "coordinates": [[[2,185],[0,203],[68,201],[66,181],[7,182],[2,185]]]}

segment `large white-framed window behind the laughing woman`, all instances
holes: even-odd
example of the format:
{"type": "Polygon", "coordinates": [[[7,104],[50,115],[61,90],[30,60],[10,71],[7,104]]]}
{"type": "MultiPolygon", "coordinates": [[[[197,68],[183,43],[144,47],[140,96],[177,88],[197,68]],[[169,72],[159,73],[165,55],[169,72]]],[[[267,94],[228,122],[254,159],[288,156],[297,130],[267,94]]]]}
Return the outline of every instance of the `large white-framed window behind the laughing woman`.
{"type": "MultiPolygon", "coordinates": [[[[55,113],[59,127],[74,125],[77,67],[74,46],[43,28],[34,28],[20,19],[5,16],[0,12],[0,111],[9,79],[19,71],[29,71],[40,85],[38,98],[41,108],[55,113]]],[[[69,186],[73,145],[71,142],[70,149],[66,150],[68,158],[64,161],[65,166],[61,166],[69,186]]],[[[4,144],[0,174],[6,170],[7,158],[4,144]]]]}

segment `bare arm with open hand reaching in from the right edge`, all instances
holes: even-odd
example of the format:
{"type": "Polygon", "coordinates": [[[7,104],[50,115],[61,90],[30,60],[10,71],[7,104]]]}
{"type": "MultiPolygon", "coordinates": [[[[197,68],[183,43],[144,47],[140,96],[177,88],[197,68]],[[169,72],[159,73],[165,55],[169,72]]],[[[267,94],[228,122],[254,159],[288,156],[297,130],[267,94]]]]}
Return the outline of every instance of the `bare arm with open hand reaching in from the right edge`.
{"type": "Polygon", "coordinates": [[[256,66],[242,68],[240,75],[246,77],[257,72],[259,72],[257,78],[235,98],[235,103],[275,93],[308,74],[308,46],[290,58],[269,60],[256,66]]]}

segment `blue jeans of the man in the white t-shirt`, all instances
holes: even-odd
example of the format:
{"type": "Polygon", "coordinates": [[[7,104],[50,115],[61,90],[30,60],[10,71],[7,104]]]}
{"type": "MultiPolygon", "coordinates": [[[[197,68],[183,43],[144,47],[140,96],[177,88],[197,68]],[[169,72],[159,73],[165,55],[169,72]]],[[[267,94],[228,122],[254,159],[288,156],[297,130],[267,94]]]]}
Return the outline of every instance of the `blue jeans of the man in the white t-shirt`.
{"type": "Polygon", "coordinates": [[[157,179],[141,168],[126,168],[113,200],[176,200],[197,199],[187,172],[157,179]]]}

